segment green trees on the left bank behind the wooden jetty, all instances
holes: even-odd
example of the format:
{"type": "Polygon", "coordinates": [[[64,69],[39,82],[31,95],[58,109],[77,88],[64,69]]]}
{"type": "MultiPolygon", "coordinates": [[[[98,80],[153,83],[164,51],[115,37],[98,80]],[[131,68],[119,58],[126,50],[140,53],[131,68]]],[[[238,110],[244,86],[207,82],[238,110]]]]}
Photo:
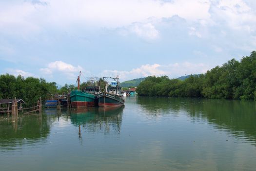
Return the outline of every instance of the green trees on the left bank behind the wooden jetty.
{"type": "Polygon", "coordinates": [[[13,75],[0,75],[0,98],[12,99],[14,97],[26,103],[35,103],[39,99],[45,100],[50,94],[57,93],[55,82],[47,83],[44,79],[33,77],[15,77],[13,75]]]}

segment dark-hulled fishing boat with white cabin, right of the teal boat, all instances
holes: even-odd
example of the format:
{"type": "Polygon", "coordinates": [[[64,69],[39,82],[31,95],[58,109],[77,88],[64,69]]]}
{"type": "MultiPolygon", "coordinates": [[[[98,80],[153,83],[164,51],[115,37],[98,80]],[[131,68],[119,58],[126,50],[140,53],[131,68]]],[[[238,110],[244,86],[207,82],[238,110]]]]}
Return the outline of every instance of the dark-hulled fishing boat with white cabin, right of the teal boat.
{"type": "Polygon", "coordinates": [[[99,107],[119,107],[123,106],[124,99],[119,86],[118,77],[103,77],[105,88],[104,91],[98,94],[99,107]],[[108,79],[113,79],[109,85],[108,79]]]}

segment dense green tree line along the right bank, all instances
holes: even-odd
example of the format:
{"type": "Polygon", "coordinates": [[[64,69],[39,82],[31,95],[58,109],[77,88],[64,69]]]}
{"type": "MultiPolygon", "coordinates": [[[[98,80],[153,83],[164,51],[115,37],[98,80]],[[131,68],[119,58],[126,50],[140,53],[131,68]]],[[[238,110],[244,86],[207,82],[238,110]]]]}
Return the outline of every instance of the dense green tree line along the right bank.
{"type": "Polygon", "coordinates": [[[256,51],[240,62],[232,59],[184,81],[150,76],[138,85],[136,91],[140,96],[256,100],[256,51]]]}

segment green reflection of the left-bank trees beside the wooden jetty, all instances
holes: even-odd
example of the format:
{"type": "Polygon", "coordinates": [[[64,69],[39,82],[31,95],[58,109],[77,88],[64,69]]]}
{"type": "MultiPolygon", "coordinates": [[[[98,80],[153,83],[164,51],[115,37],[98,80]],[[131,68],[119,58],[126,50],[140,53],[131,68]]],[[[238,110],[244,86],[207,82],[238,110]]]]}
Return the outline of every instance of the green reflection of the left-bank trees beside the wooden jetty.
{"type": "Polygon", "coordinates": [[[11,116],[0,118],[0,151],[15,150],[22,145],[31,145],[46,139],[50,124],[46,116],[39,114],[11,116]]]}

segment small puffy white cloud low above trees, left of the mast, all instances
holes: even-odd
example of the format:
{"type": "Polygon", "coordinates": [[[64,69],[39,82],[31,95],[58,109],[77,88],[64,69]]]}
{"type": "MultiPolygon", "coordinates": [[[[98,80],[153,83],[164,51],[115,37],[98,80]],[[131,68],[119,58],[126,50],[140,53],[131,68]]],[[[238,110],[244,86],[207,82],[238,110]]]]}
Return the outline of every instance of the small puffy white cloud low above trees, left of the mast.
{"type": "Polygon", "coordinates": [[[68,78],[74,79],[76,75],[79,74],[79,71],[84,71],[84,69],[79,65],[75,67],[72,64],[55,61],[49,63],[46,68],[40,68],[40,71],[44,75],[64,74],[68,76],[68,78]]]}

